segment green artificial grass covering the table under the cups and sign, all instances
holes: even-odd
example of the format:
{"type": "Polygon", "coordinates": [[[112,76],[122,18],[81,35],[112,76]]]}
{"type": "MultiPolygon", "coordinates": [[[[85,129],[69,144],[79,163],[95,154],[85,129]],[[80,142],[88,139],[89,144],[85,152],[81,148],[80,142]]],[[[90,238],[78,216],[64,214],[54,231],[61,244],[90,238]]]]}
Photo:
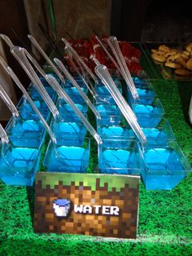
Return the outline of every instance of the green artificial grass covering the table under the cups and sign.
{"type": "MultiPolygon", "coordinates": [[[[164,80],[152,83],[177,143],[192,165],[192,130],[183,114],[187,107],[182,105],[182,97],[189,97],[191,85],[164,80]],[[180,90],[181,85],[185,90],[180,90]]],[[[91,142],[93,146],[94,140],[91,142]]],[[[91,150],[88,172],[97,172],[96,146],[91,150]]],[[[45,153],[46,146],[42,151],[45,153]]],[[[44,170],[42,159],[40,170],[44,170]]],[[[192,255],[191,182],[189,174],[172,191],[147,191],[141,183],[136,240],[35,234],[34,188],[0,183],[0,255],[192,255]]]]}

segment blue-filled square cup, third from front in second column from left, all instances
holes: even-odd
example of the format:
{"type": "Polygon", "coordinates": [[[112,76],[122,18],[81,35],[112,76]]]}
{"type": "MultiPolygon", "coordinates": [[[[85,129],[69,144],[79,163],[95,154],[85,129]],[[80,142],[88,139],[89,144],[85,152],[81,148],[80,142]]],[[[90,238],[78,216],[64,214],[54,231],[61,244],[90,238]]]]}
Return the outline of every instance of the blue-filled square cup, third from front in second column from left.
{"type": "MultiPolygon", "coordinates": [[[[73,111],[72,107],[67,104],[64,99],[58,98],[57,107],[63,121],[81,122],[80,118],[76,116],[76,113],[73,111]]],[[[79,108],[79,110],[85,115],[85,117],[87,117],[87,104],[76,104],[76,107],[79,108]]]]}

